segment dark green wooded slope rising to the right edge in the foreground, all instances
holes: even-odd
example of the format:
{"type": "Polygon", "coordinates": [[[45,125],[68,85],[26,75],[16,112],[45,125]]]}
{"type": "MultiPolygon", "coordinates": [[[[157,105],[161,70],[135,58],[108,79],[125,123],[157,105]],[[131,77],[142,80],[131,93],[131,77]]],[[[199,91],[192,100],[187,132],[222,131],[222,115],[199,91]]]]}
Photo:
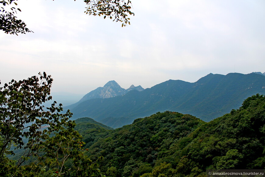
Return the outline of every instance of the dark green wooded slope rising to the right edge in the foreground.
{"type": "Polygon", "coordinates": [[[257,94],[240,109],[200,125],[171,144],[157,162],[171,162],[178,174],[188,176],[203,175],[206,169],[263,169],[264,123],[265,97],[257,94]]]}

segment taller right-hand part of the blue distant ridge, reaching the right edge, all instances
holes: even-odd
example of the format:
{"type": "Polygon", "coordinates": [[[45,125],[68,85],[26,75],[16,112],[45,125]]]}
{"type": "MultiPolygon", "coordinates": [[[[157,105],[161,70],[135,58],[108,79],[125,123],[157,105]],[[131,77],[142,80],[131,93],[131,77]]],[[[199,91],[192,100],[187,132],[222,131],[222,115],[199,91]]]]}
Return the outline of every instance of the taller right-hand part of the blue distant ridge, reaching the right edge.
{"type": "Polygon", "coordinates": [[[251,95],[265,94],[265,78],[262,75],[230,73],[211,76],[214,77],[206,79],[210,77],[207,75],[203,78],[205,81],[197,81],[189,92],[193,95],[183,96],[180,100],[182,104],[175,104],[169,110],[180,110],[210,121],[239,108],[240,103],[251,95]]]}

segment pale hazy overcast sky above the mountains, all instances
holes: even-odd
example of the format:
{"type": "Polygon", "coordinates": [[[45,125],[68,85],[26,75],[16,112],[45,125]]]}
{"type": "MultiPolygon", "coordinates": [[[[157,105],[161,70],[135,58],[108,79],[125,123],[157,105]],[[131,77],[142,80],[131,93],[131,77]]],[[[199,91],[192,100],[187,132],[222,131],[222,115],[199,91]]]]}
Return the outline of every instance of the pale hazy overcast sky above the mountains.
{"type": "Polygon", "coordinates": [[[131,25],[88,16],[82,0],[19,0],[34,33],[0,31],[0,80],[45,71],[52,92],[86,94],[107,81],[150,88],[209,74],[265,72],[264,0],[131,0],[131,25]]]}

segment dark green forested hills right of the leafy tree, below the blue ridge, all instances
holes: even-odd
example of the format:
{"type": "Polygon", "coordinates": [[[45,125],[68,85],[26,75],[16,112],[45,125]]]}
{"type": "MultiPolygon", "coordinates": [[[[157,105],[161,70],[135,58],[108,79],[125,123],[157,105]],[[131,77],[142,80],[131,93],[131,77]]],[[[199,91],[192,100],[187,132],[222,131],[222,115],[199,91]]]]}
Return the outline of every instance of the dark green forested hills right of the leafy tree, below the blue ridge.
{"type": "Polygon", "coordinates": [[[81,134],[90,159],[104,157],[107,176],[198,176],[207,169],[264,169],[264,122],[265,97],[257,94],[208,123],[166,111],[81,134]]]}

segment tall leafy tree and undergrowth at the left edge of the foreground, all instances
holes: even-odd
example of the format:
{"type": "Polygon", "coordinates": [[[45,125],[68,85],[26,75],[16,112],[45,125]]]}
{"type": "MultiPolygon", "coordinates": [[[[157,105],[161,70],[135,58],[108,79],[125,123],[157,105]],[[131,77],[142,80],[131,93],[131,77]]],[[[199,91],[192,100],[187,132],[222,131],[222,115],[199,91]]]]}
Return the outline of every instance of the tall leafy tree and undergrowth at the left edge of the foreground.
{"type": "Polygon", "coordinates": [[[101,175],[97,163],[83,154],[85,143],[74,130],[75,122],[69,120],[72,113],[60,114],[62,104],[56,107],[56,102],[51,107],[42,106],[51,99],[52,81],[44,72],[23,81],[12,80],[0,88],[1,176],[101,175]],[[14,155],[11,145],[24,149],[17,161],[6,157],[14,155]],[[33,157],[37,161],[26,163],[33,157]]]}

